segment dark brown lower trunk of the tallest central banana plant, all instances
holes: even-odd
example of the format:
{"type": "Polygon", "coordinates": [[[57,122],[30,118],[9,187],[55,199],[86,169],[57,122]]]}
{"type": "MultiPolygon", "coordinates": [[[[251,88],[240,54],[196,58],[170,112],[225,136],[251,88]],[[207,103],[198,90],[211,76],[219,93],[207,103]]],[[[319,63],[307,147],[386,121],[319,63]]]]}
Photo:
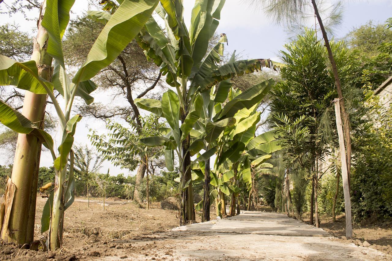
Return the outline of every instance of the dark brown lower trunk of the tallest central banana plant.
{"type": "Polygon", "coordinates": [[[181,187],[183,187],[188,181],[189,185],[182,192],[181,208],[182,218],[180,220],[181,225],[187,224],[191,220],[196,220],[196,213],[193,203],[193,189],[192,189],[192,174],[191,174],[191,153],[187,152],[189,148],[191,137],[188,137],[182,142],[182,157],[183,165],[181,166],[181,187]]]}

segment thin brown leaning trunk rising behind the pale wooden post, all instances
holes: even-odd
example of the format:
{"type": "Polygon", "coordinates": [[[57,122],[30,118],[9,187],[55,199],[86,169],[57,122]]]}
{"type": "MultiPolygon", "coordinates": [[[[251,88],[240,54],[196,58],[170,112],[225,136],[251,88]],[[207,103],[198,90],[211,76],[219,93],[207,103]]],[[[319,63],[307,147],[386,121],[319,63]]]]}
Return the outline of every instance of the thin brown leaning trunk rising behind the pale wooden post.
{"type": "Polygon", "coordinates": [[[329,58],[329,61],[331,63],[332,73],[334,74],[334,78],[335,78],[336,91],[338,91],[338,97],[339,97],[339,101],[340,101],[339,105],[340,105],[340,109],[341,109],[341,114],[343,116],[343,128],[344,128],[344,138],[342,137],[342,139],[344,141],[343,141],[342,145],[343,146],[345,145],[346,149],[347,149],[346,163],[347,163],[348,186],[350,186],[350,176],[351,176],[350,175],[350,173],[351,173],[350,119],[348,118],[348,114],[347,114],[346,109],[345,109],[345,101],[344,101],[343,93],[342,93],[342,90],[341,90],[341,83],[340,83],[340,79],[339,79],[338,68],[336,67],[336,62],[335,62],[335,59],[334,59],[334,55],[332,54],[331,46],[329,44],[327,31],[325,31],[325,28],[324,28],[324,25],[323,25],[323,20],[321,19],[321,16],[320,16],[318,8],[317,8],[316,0],[312,0],[312,5],[313,5],[313,8],[314,8],[314,13],[317,16],[317,20],[318,20],[319,25],[320,25],[321,33],[323,34],[325,47],[327,47],[328,58],[329,58]]]}

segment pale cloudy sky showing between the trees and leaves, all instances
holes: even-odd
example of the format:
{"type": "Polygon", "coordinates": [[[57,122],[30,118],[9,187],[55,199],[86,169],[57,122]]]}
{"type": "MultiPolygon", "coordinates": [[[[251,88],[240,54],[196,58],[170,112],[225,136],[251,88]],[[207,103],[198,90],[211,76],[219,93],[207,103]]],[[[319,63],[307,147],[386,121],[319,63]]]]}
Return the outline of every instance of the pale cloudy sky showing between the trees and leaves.
{"type": "MultiPolygon", "coordinates": [[[[10,2],[4,0],[4,2],[10,2]]],[[[184,0],[185,21],[189,24],[190,11],[194,4],[193,0],[184,0]]],[[[226,0],[221,13],[220,25],[217,33],[226,33],[229,40],[229,46],[225,46],[226,51],[232,52],[235,49],[242,52],[244,58],[271,58],[276,60],[279,50],[287,42],[288,36],[284,28],[275,25],[261,10],[249,8],[247,5],[241,4],[241,0],[226,0]]],[[[309,1],[310,2],[310,1],[309,1]]],[[[331,0],[330,2],[334,2],[331,0]]],[[[335,38],[343,38],[354,27],[366,24],[369,20],[373,20],[375,24],[383,23],[387,18],[392,16],[392,0],[349,0],[344,1],[344,17],[339,28],[335,29],[335,38]]],[[[0,4],[1,5],[1,4],[0,4]]],[[[71,11],[71,18],[82,14],[88,10],[87,1],[76,0],[71,11]]],[[[38,13],[34,10],[27,14],[29,18],[36,16],[38,13]]],[[[34,35],[34,27],[36,22],[26,20],[22,14],[14,14],[9,17],[6,14],[0,14],[0,24],[11,23],[19,25],[21,31],[26,31],[34,35]]],[[[125,99],[118,98],[115,101],[108,99],[107,94],[102,92],[94,92],[95,101],[102,103],[115,102],[127,104],[125,99]]],[[[53,111],[54,112],[54,111],[53,111]]],[[[102,120],[83,119],[78,123],[75,135],[75,143],[88,143],[87,133],[89,128],[97,129],[103,132],[104,124],[102,120]]],[[[0,159],[0,164],[4,165],[4,158],[0,159]]],[[[53,160],[49,153],[44,152],[41,156],[41,166],[53,165],[53,160]]],[[[120,170],[118,167],[112,166],[105,162],[102,172],[106,172],[110,167],[111,174],[119,173],[129,174],[127,170],[120,170]]]]}

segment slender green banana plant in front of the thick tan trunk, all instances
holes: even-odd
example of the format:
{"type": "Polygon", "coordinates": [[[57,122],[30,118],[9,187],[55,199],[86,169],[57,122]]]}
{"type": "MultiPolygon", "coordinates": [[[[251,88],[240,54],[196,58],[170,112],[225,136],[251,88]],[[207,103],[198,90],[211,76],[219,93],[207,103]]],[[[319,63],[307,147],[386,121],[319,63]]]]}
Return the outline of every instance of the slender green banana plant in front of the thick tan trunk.
{"type": "MultiPolygon", "coordinates": [[[[47,245],[55,250],[62,245],[64,210],[74,200],[73,157],[71,147],[74,141],[76,123],[81,116],[71,116],[75,96],[82,97],[87,104],[93,102],[90,93],[97,86],[90,80],[101,69],[109,65],[120,52],[140,32],[145,22],[151,17],[158,0],[123,0],[107,21],[96,39],[82,67],[74,77],[69,78],[64,64],[62,37],[69,22],[69,12],[74,0],[47,0],[42,26],[49,37],[47,53],[54,59],[51,81],[38,75],[36,63],[29,61],[19,63],[5,56],[0,56],[0,84],[14,85],[37,94],[48,94],[58,114],[62,139],[58,153],[49,134],[40,130],[15,109],[4,102],[0,103],[0,121],[7,127],[20,132],[34,134],[42,140],[43,145],[51,151],[56,169],[54,191],[45,204],[42,214],[42,232],[49,229],[47,245]],[[64,100],[63,108],[56,100],[53,90],[58,91],[64,100]],[[67,173],[67,161],[71,155],[70,171],[67,173]]],[[[43,43],[42,43],[43,44],[43,43]]],[[[7,228],[7,224],[4,224],[7,228]]]]}

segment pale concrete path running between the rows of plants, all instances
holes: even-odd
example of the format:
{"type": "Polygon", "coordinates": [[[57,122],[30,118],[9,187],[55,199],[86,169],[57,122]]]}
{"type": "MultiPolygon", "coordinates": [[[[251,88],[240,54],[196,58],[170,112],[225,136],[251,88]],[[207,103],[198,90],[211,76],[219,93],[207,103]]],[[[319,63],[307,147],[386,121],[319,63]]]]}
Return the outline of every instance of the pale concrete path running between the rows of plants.
{"type": "MultiPolygon", "coordinates": [[[[331,237],[283,214],[244,211],[124,241],[120,260],[392,260],[372,248],[331,237]]],[[[107,258],[107,257],[106,257],[107,258]]]]}

